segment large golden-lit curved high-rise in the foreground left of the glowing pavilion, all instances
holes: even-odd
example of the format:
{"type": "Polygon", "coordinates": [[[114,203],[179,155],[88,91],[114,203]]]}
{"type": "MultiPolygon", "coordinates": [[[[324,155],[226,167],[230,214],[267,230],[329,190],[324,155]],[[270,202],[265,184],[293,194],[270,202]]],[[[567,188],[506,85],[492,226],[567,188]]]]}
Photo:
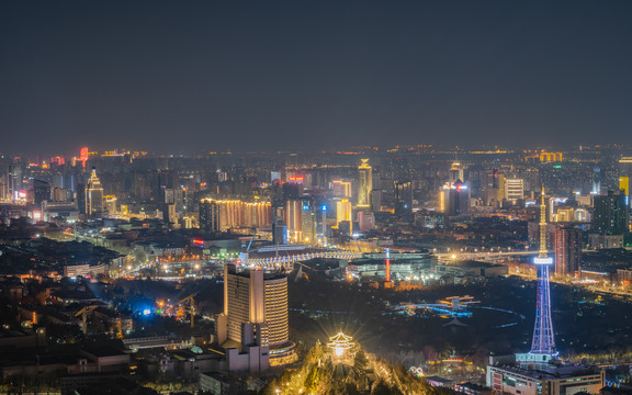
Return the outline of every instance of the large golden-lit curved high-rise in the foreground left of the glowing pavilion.
{"type": "Polygon", "coordinates": [[[229,371],[261,372],[296,360],[289,340],[287,276],[224,267],[224,313],[217,339],[229,371]]]}

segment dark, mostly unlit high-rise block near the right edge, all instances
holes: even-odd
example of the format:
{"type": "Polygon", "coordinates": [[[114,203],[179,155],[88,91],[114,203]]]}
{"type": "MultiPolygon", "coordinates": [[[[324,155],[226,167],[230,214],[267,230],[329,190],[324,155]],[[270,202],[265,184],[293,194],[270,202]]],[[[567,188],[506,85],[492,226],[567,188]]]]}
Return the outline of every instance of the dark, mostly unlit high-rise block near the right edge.
{"type": "Polygon", "coordinates": [[[606,195],[595,196],[592,230],[600,235],[623,235],[628,238],[629,229],[629,196],[621,192],[608,191],[606,195]]]}

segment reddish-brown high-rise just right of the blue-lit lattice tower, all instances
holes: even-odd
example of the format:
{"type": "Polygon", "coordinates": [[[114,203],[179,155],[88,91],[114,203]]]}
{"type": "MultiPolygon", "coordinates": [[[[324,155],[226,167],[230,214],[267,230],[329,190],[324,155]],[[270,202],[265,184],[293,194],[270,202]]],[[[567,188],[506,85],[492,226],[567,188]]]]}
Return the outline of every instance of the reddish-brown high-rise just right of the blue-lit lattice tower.
{"type": "Polygon", "coordinates": [[[555,275],[575,276],[582,262],[582,230],[563,225],[555,229],[555,275]]]}

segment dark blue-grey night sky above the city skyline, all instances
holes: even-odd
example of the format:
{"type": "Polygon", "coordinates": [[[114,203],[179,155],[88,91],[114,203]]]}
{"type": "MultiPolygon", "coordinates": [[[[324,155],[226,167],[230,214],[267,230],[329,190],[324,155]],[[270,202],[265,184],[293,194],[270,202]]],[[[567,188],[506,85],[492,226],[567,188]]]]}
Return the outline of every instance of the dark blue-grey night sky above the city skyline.
{"type": "Polygon", "coordinates": [[[1,153],[632,143],[632,1],[0,2],[1,153]]]}

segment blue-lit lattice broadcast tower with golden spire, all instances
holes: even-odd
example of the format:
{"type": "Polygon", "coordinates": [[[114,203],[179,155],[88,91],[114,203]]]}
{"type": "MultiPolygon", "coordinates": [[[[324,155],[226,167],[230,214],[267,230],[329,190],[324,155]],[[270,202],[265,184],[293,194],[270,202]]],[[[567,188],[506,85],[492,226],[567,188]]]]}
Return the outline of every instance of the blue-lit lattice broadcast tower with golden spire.
{"type": "Polygon", "coordinates": [[[538,266],[538,298],[535,302],[535,326],[531,354],[555,354],[555,338],[551,320],[551,291],[549,286],[549,268],[553,258],[546,251],[546,204],[544,202],[544,188],[542,188],[542,204],[540,205],[540,253],[533,260],[538,266]]]}

